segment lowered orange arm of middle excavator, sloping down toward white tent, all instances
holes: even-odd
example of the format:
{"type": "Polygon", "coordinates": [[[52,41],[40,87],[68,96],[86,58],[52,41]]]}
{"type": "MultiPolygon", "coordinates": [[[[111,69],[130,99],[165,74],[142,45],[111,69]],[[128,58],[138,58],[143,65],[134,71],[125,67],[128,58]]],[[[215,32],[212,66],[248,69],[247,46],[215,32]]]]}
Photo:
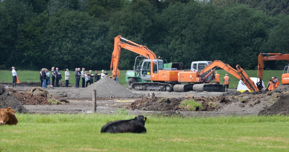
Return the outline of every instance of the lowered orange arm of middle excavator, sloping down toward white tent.
{"type": "Polygon", "coordinates": [[[232,74],[233,76],[235,76],[236,78],[242,80],[242,82],[246,85],[246,87],[248,87],[248,89],[250,91],[252,91],[252,92],[253,91],[259,91],[259,89],[255,85],[254,81],[250,79],[250,77],[247,75],[247,73],[239,65],[236,65],[236,68],[238,70],[237,71],[234,68],[232,68],[230,65],[225,64],[222,61],[216,60],[216,61],[212,62],[210,65],[208,65],[207,67],[205,67],[203,70],[201,70],[199,72],[199,75],[205,74],[205,72],[208,72],[210,69],[212,69],[214,67],[220,67],[220,68],[224,69],[225,71],[229,72],[230,74],[232,74]]]}

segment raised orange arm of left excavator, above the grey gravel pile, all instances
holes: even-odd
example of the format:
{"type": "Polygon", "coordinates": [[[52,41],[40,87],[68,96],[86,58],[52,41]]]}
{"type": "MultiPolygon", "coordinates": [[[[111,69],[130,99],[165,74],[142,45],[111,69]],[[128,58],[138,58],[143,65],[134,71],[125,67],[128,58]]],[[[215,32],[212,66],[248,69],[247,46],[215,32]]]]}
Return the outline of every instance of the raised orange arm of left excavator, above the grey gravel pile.
{"type": "Polygon", "coordinates": [[[153,53],[153,51],[149,50],[146,46],[139,45],[132,41],[122,38],[120,35],[114,38],[114,50],[112,52],[112,58],[110,63],[110,71],[112,72],[112,76],[114,80],[116,79],[116,70],[118,69],[119,57],[121,55],[121,49],[124,48],[131,52],[138,53],[142,56],[145,56],[148,59],[157,59],[157,56],[153,53]],[[130,44],[121,42],[121,40],[127,41],[130,44]]]}

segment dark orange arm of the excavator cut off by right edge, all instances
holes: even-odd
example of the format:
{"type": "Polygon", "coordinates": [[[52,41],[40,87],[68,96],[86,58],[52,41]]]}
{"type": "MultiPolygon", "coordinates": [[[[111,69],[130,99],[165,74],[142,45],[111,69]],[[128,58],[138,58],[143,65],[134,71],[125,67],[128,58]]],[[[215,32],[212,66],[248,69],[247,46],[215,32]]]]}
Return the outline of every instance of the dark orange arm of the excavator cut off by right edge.
{"type": "Polygon", "coordinates": [[[263,71],[264,71],[264,61],[270,60],[286,60],[289,65],[289,54],[281,54],[281,53],[260,53],[258,56],[258,72],[257,76],[259,76],[260,81],[257,82],[257,86],[259,89],[262,89],[262,80],[263,80],[263,71]],[[271,55],[271,56],[263,56],[271,55]]]}

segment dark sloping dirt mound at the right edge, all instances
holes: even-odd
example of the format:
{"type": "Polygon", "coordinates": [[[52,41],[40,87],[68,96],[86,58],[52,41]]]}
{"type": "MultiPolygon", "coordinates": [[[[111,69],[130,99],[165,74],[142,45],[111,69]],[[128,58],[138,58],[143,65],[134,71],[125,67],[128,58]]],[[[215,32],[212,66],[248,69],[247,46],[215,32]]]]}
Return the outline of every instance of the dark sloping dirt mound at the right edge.
{"type": "MultiPolygon", "coordinates": [[[[279,87],[278,87],[279,88],[279,87]]],[[[289,91],[280,94],[278,100],[268,109],[262,110],[259,115],[288,115],[289,113],[289,91]]]]}

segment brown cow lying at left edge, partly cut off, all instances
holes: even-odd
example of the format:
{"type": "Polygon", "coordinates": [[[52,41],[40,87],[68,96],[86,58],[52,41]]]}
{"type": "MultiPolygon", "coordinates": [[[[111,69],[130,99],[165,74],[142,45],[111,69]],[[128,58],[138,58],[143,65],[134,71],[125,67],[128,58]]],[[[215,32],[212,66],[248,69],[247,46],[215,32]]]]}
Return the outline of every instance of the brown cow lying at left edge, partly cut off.
{"type": "Polygon", "coordinates": [[[14,110],[11,107],[0,109],[0,125],[4,124],[17,124],[18,120],[14,115],[14,110]]]}

